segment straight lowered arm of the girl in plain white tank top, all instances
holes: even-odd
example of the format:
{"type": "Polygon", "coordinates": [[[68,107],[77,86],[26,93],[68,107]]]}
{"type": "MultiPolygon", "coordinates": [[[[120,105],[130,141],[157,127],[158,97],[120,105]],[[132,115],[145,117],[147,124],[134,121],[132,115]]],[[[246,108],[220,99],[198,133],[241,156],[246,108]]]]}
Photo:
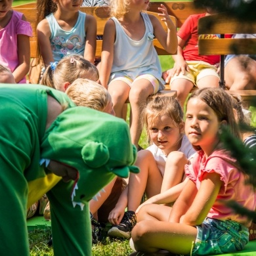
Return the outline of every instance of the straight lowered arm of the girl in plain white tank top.
{"type": "Polygon", "coordinates": [[[100,84],[108,88],[108,80],[112,70],[114,59],[114,42],[116,37],[116,26],[113,20],[108,20],[104,28],[101,64],[100,64],[100,84]]]}

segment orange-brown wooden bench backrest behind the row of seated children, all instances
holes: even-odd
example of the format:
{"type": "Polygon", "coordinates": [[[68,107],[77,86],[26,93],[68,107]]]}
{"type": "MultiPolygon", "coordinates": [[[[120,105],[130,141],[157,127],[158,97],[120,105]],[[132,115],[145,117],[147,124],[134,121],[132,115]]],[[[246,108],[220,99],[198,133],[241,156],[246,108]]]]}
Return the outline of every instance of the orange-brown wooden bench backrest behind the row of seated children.
{"type": "MultiPolygon", "coordinates": [[[[184,20],[190,15],[190,14],[196,14],[203,12],[203,9],[196,9],[194,7],[194,3],[192,2],[155,2],[150,3],[149,13],[155,15],[161,22],[161,18],[158,16],[157,12],[158,7],[163,4],[165,7],[167,7],[167,11],[169,15],[171,16],[171,19],[177,27],[179,28],[184,20]]],[[[16,7],[13,7],[12,9],[22,12],[25,16],[28,22],[32,24],[33,29],[33,37],[30,38],[30,53],[31,57],[35,58],[39,56],[38,46],[37,46],[37,9],[36,9],[36,3],[28,3],[25,5],[18,5],[16,7]]],[[[97,21],[97,34],[102,35],[104,26],[106,24],[106,21],[108,20],[109,12],[108,7],[81,7],[80,10],[82,12],[86,12],[87,14],[91,14],[95,16],[97,21]]],[[[163,25],[163,28],[165,28],[165,24],[161,22],[163,25]]],[[[154,39],[154,47],[156,48],[156,51],[159,55],[165,55],[169,54],[167,53],[163,47],[161,47],[161,44],[158,42],[158,40],[154,39]]],[[[100,56],[102,49],[102,41],[97,40],[96,43],[96,56],[100,56]]],[[[171,53],[175,54],[175,53],[171,53]]]]}

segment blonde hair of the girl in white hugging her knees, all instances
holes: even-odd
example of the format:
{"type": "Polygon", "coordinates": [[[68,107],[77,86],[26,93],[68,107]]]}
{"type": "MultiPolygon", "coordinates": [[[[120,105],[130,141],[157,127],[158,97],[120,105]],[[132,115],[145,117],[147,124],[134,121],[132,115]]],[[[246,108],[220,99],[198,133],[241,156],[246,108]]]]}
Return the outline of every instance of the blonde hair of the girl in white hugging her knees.
{"type": "Polygon", "coordinates": [[[142,112],[142,119],[146,127],[149,141],[151,140],[149,131],[150,123],[154,123],[156,119],[165,115],[169,116],[177,127],[183,123],[183,111],[176,98],[171,96],[154,96],[154,98],[146,104],[146,108],[144,108],[142,112]]]}

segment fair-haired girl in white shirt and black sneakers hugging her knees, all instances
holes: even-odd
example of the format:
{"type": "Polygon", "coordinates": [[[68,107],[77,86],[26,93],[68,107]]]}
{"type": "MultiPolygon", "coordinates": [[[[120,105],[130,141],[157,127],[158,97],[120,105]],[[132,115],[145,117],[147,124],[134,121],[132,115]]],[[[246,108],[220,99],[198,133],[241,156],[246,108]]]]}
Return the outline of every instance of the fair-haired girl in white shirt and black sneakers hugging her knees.
{"type": "MultiPolygon", "coordinates": [[[[114,226],[108,235],[112,237],[131,236],[131,230],[136,224],[135,211],[144,192],[150,200],[160,192],[177,188],[176,185],[184,181],[184,165],[190,163],[189,159],[195,153],[184,135],[183,112],[175,98],[153,97],[142,116],[152,145],[138,152],[135,165],[140,168],[140,173],[130,175],[127,188],[110,212],[109,221],[114,226]],[[126,212],[125,207],[128,210],[126,212]]],[[[169,196],[169,202],[175,202],[182,186],[169,196]]]]}

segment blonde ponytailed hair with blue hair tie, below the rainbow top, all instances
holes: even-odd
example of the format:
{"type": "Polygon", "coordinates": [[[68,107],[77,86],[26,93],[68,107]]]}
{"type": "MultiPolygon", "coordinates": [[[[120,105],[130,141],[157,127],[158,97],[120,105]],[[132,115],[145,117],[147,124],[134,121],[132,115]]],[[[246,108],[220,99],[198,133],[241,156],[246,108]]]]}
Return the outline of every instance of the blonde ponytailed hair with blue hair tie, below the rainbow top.
{"type": "Polygon", "coordinates": [[[41,84],[47,85],[59,91],[64,91],[64,83],[73,83],[75,79],[84,77],[98,80],[98,70],[95,65],[85,60],[83,56],[70,54],[62,58],[56,68],[48,66],[40,81],[41,84]]]}

